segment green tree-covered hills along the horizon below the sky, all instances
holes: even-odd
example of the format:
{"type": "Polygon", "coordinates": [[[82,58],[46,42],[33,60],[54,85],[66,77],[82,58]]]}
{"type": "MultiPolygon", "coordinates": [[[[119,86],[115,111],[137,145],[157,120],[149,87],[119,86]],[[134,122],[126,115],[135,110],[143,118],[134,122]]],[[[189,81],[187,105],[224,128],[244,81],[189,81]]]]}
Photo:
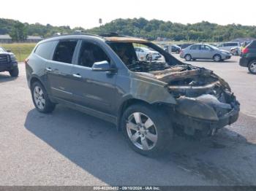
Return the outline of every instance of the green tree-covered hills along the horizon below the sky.
{"type": "MultiPolygon", "coordinates": [[[[10,34],[12,39],[16,41],[22,41],[27,35],[49,37],[56,33],[70,34],[76,30],[84,30],[84,28],[51,26],[50,24],[42,25],[39,23],[29,24],[20,23],[18,20],[0,19],[0,34],[10,34]]],[[[146,20],[142,17],[116,19],[105,25],[85,31],[96,34],[116,32],[149,40],[161,37],[173,41],[195,42],[223,42],[241,37],[256,38],[256,26],[242,26],[239,24],[221,26],[207,21],[195,24],[181,24],[162,20],[146,20]]]]}

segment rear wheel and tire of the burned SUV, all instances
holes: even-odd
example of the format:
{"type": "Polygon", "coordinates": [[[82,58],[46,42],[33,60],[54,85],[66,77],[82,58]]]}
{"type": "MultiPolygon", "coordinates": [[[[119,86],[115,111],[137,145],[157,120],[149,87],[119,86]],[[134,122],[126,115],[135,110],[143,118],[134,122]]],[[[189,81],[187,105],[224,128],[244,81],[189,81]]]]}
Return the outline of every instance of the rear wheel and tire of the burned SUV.
{"type": "Polygon", "coordinates": [[[33,85],[31,86],[31,95],[37,111],[42,113],[53,112],[56,104],[53,104],[50,101],[45,87],[43,87],[40,82],[33,83],[33,85]]]}

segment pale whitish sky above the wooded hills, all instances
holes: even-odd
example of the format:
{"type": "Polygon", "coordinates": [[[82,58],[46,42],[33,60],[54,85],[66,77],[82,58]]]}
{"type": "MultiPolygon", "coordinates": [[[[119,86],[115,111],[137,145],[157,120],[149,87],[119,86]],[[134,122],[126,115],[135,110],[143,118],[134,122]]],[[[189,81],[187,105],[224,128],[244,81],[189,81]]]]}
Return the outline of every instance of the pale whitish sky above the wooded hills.
{"type": "Polygon", "coordinates": [[[1,1],[0,17],[72,28],[92,28],[99,26],[99,18],[108,23],[120,17],[256,26],[255,7],[255,0],[7,0],[1,1]]]}

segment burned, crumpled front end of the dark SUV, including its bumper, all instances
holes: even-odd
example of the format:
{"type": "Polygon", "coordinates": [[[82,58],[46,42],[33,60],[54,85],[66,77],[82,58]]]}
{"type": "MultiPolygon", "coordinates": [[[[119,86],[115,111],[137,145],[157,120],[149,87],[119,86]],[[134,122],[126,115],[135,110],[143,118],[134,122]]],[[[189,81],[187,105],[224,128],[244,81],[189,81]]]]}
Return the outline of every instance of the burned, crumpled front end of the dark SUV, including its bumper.
{"type": "Polygon", "coordinates": [[[238,119],[240,104],[230,86],[213,71],[191,65],[173,66],[151,71],[156,79],[167,83],[177,104],[171,109],[173,122],[188,135],[200,130],[213,134],[238,119]]]}

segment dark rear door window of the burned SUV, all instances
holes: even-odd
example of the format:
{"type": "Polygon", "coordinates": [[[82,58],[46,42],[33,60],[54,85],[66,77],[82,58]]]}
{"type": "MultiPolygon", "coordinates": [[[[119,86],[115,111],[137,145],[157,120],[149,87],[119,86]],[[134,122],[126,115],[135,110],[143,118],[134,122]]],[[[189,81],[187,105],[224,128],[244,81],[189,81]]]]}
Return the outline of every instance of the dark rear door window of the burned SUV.
{"type": "Polygon", "coordinates": [[[61,63],[72,63],[72,58],[77,44],[77,40],[59,42],[53,55],[53,61],[58,61],[61,63]]]}

